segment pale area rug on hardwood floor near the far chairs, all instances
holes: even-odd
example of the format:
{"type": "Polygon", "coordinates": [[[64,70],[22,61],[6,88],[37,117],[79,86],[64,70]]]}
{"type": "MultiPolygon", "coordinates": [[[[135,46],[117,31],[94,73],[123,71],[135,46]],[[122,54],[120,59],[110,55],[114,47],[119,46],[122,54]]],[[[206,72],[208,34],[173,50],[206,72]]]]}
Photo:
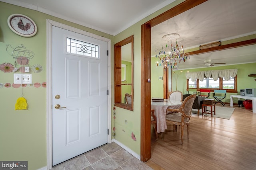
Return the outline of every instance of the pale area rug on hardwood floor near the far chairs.
{"type": "MultiPolygon", "coordinates": [[[[208,109],[210,109],[210,107],[207,107],[207,110],[208,109]]],[[[197,109],[192,109],[192,113],[197,114],[197,112],[198,112],[197,109]]],[[[233,112],[234,112],[234,108],[216,106],[216,115],[214,115],[214,112],[212,112],[212,117],[219,117],[222,119],[230,119],[233,112]]],[[[202,115],[202,109],[200,109],[199,115],[202,115]]],[[[204,114],[204,115],[211,117],[211,114],[204,114]]]]}

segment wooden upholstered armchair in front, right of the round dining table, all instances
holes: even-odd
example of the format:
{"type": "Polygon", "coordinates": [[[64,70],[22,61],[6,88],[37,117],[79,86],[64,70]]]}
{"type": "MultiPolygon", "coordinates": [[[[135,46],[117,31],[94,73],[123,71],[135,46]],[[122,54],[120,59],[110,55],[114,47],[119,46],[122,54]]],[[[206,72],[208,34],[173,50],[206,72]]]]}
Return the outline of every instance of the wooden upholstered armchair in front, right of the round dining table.
{"type": "MultiPolygon", "coordinates": [[[[191,117],[191,110],[196,98],[196,94],[186,97],[179,109],[170,109],[173,113],[166,115],[166,123],[172,123],[175,126],[180,125],[181,144],[183,144],[183,130],[184,125],[187,125],[187,133],[189,139],[189,123],[191,117]]],[[[177,130],[177,127],[175,131],[177,130]]]]}

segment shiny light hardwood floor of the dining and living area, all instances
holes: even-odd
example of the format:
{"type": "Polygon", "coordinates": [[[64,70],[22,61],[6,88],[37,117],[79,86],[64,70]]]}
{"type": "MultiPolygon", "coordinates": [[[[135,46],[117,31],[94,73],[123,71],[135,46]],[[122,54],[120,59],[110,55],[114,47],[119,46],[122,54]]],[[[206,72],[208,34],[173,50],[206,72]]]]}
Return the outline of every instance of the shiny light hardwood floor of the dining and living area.
{"type": "Polygon", "coordinates": [[[234,108],[229,120],[192,114],[190,139],[184,127],[183,145],[180,127],[173,132],[173,126],[168,126],[164,139],[158,141],[152,129],[151,159],[146,164],[154,170],[256,169],[256,113],[244,107],[234,108]]]}

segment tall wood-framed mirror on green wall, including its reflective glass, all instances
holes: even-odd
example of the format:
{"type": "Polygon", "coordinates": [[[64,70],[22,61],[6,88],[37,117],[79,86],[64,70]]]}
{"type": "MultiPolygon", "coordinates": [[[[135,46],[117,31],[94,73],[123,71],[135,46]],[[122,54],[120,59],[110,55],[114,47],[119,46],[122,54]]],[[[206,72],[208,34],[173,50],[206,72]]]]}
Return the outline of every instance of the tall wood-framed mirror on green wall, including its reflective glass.
{"type": "Polygon", "coordinates": [[[115,106],[133,110],[133,35],[114,46],[115,106]]]}

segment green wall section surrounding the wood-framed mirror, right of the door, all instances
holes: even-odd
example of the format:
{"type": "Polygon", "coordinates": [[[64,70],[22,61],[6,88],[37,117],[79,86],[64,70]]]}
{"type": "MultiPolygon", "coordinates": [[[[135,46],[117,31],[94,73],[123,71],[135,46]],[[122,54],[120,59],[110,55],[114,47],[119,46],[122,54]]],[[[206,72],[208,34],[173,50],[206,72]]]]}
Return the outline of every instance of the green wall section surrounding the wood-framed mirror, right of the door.
{"type": "Polygon", "coordinates": [[[144,18],[114,37],[114,43],[118,43],[134,35],[134,110],[130,111],[116,107],[116,119],[112,118],[112,126],[115,124],[115,139],[134,151],[138,156],[140,156],[141,25],[183,1],[184,0],[176,0],[172,4],[144,18]],[[132,133],[134,133],[136,141],[132,139],[132,133]]]}

